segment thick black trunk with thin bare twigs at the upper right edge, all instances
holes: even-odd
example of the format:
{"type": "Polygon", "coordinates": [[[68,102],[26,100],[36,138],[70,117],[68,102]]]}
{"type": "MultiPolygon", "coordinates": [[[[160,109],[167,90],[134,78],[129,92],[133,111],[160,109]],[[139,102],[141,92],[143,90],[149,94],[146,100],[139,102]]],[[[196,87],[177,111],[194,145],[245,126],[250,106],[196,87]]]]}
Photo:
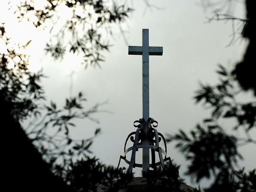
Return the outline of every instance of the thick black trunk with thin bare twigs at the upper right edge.
{"type": "Polygon", "coordinates": [[[201,5],[205,9],[212,9],[213,16],[209,18],[211,21],[231,21],[232,24],[232,38],[228,46],[232,45],[241,38],[241,35],[249,41],[249,45],[244,54],[243,61],[237,63],[233,70],[236,80],[244,90],[252,89],[256,95],[256,85],[254,83],[254,71],[256,70],[254,62],[254,50],[256,49],[255,41],[255,7],[256,2],[253,0],[245,0],[246,6],[246,19],[239,18],[234,15],[235,9],[233,7],[236,3],[242,3],[237,0],[228,1],[215,1],[215,0],[202,0],[201,5]],[[238,36],[238,37],[237,37],[238,36]]]}

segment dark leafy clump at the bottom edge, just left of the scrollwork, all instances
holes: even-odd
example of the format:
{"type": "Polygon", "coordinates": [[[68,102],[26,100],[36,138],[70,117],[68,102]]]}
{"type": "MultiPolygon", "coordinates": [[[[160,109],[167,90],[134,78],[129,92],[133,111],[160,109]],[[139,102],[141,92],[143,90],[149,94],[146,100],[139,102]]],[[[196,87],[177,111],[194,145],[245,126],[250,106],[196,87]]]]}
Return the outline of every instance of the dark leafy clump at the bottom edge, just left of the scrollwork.
{"type": "Polygon", "coordinates": [[[118,192],[120,188],[127,186],[133,174],[119,177],[119,171],[113,166],[106,166],[93,157],[82,158],[69,164],[67,175],[63,178],[73,191],[96,191],[101,189],[118,192]],[[118,179],[114,181],[113,178],[118,179]]]}

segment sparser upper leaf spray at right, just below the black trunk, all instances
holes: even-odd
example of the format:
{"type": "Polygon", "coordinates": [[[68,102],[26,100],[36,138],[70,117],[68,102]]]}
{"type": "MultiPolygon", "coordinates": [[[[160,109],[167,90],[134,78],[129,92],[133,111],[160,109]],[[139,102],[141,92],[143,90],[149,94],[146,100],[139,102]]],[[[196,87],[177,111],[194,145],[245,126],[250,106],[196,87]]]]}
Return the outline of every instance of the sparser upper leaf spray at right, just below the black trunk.
{"type": "Polygon", "coordinates": [[[234,129],[243,128],[246,132],[256,127],[256,101],[239,101],[241,89],[237,88],[237,82],[232,72],[219,65],[217,71],[220,75],[220,83],[216,86],[201,84],[201,89],[196,91],[194,99],[196,103],[203,101],[212,109],[211,119],[235,118],[237,125],[234,129]]]}

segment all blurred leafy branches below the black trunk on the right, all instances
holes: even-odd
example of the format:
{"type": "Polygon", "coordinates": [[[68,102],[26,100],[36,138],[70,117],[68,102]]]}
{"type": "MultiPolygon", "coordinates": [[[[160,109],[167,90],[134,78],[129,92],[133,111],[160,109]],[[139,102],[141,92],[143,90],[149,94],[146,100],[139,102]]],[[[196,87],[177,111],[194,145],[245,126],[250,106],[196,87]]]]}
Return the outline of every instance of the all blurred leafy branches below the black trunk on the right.
{"type": "Polygon", "coordinates": [[[189,134],[179,130],[178,134],[169,135],[168,141],[176,142],[176,147],[189,161],[187,175],[197,183],[213,179],[213,183],[204,188],[205,192],[254,192],[255,170],[245,173],[244,168],[239,170],[237,162],[242,158],[239,146],[256,144],[256,138],[250,134],[256,129],[256,101],[254,97],[250,102],[241,100],[243,91],[231,71],[219,65],[217,73],[219,83],[215,86],[201,84],[194,97],[196,103],[203,102],[211,109],[211,117],[204,119],[202,125],[196,125],[189,134]],[[228,134],[219,125],[220,120],[228,119],[233,131],[243,130],[244,138],[228,134]]]}

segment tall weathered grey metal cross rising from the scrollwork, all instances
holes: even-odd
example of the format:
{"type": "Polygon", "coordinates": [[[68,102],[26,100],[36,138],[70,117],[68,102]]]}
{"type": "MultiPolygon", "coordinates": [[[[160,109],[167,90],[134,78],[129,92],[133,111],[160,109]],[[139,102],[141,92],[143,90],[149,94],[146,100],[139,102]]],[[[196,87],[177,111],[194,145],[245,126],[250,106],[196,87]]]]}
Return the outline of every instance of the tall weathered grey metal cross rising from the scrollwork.
{"type": "MultiPolygon", "coordinates": [[[[142,111],[145,121],[149,118],[149,55],[163,55],[163,47],[149,47],[148,29],[142,29],[142,46],[129,46],[129,55],[142,55],[142,111]]],[[[145,130],[146,132],[146,130],[145,130]]],[[[142,140],[149,145],[149,140],[142,140]]],[[[149,170],[149,148],[142,151],[142,171],[149,170]]]]}

